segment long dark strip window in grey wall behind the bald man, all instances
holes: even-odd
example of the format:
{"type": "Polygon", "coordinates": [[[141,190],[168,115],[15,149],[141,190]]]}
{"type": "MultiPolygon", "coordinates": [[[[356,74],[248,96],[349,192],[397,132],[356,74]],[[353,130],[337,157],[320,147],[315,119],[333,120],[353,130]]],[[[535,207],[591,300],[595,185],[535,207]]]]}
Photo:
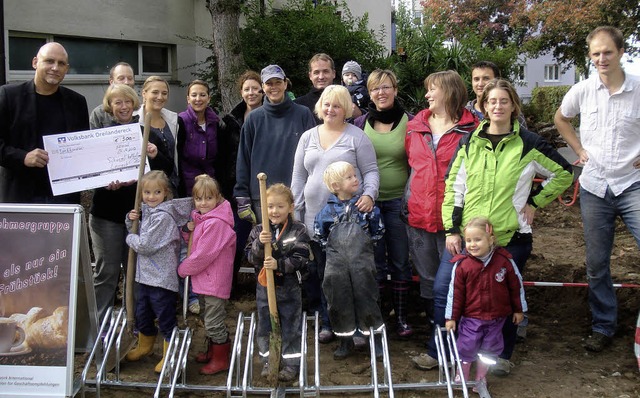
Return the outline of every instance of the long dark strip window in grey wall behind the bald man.
{"type": "Polygon", "coordinates": [[[84,37],[37,35],[9,32],[9,74],[12,79],[24,79],[33,74],[31,60],[46,42],[56,41],[69,54],[67,79],[101,79],[111,67],[127,62],[138,77],[171,75],[171,46],[124,40],[102,40],[84,37]]]}

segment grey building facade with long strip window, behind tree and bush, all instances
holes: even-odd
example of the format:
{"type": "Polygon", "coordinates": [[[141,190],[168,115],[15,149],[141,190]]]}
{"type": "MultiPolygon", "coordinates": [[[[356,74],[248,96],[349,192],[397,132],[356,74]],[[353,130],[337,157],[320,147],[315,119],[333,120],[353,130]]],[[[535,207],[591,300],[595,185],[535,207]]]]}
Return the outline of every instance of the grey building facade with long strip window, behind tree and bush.
{"type": "MultiPolygon", "coordinates": [[[[389,49],[391,3],[350,0],[348,5],[354,16],[369,14],[372,30],[385,30],[389,49]]],[[[126,61],[134,67],[138,87],[150,75],[166,78],[171,85],[167,108],[181,111],[183,86],[194,78],[194,65],[210,55],[190,38],[211,37],[211,27],[205,0],[6,1],[5,78],[8,83],[33,78],[31,60],[38,48],[58,41],[69,53],[63,84],[83,94],[89,109],[102,102],[111,66],[126,61]]]]}

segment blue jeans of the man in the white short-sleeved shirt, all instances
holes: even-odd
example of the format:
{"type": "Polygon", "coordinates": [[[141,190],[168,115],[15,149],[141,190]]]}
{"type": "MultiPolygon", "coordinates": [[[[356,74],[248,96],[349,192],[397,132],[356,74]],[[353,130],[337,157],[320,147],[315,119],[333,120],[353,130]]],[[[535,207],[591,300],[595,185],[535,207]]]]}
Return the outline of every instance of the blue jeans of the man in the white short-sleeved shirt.
{"type": "Polygon", "coordinates": [[[618,322],[618,300],[610,267],[615,221],[620,216],[640,246],[640,182],[618,196],[607,189],[604,198],[580,188],[580,210],[587,254],[591,328],[611,337],[618,322]]]}

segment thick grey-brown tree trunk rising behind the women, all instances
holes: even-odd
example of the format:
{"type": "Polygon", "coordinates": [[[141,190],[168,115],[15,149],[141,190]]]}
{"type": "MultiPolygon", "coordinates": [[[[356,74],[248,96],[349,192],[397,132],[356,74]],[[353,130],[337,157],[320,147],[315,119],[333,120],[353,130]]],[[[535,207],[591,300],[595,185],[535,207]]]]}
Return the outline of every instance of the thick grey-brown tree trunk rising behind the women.
{"type": "Polygon", "coordinates": [[[230,112],[241,100],[236,79],[246,69],[240,45],[240,4],[238,0],[207,0],[207,9],[213,22],[218,87],[225,113],[230,112]]]}

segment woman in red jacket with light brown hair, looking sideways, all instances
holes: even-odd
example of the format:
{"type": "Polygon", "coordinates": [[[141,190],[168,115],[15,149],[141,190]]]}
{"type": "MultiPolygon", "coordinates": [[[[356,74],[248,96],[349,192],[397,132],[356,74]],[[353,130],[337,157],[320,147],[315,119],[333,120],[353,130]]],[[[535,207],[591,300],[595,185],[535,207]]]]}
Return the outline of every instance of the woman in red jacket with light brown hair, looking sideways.
{"type": "Polygon", "coordinates": [[[420,276],[420,296],[431,321],[433,281],[445,250],[444,176],[458,141],[476,128],[478,119],[465,109],[467,88],[457,72],[432,73],[424,87],[429,108],[407,124],[405,149],[411,173],[402,216],[408,224],[409,253],[420,276]]]}

